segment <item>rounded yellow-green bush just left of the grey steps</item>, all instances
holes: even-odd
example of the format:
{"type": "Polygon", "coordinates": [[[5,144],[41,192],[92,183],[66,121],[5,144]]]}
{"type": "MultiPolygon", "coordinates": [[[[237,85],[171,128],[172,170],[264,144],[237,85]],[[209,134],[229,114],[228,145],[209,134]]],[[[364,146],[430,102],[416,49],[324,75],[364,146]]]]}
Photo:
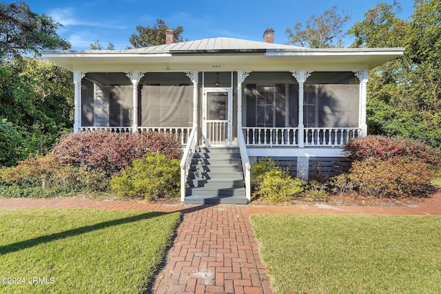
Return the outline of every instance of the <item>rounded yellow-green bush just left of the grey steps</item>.
{"type": "Polygon", "coordinates": [[[165,154],[147,152],[135,159],[121,176],[110,180],[112,190],[121,196],[143,197],[147,200],[161,196],[178,196],[181,169],[180,160],[165,154]]]}

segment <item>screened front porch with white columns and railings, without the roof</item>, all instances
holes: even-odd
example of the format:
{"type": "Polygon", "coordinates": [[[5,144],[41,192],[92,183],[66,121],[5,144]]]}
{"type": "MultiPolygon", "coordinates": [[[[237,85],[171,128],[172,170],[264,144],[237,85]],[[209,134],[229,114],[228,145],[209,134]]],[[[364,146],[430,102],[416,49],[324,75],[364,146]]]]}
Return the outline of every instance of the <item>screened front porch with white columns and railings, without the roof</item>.
{"type": "MultiPolygon", "coordinates": [[[[75,72],[74,80],[75,132],[105,129],[176,137],[184,148],[182,201],[194,169],[208,172],[219,165],[197,167],[196,147],[238,151],[240,165],[234,169],[242,169],[242,180],[216,188],[243,193],[237,186],[243,181],[243,197],[249,201],[250,167],[256,158],[289,157],[307,167],[309,157],[342,156],[342,145],[367,129],[367,71],[75,72]],[[310,83],[305,84],[307,78],[310,83]]],[[[302,174],[307,176],[307,171],[302,174]]],[[[208,185],[209,178],[214,174],[199,183],[208,185]]]]}

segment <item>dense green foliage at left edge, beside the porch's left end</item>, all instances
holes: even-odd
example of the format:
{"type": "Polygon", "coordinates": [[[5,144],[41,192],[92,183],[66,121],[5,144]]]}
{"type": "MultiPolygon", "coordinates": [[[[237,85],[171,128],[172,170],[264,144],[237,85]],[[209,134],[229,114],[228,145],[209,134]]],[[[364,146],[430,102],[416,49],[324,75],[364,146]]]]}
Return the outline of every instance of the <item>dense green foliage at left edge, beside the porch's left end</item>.
{"type": "Polygon", "coordinates": [[[6,144],[0,166],[29,154],[43,154],[70,132],[73,120],[72,73],[53,63],[23,57],[0,63],[0,137],[6,144]]]}

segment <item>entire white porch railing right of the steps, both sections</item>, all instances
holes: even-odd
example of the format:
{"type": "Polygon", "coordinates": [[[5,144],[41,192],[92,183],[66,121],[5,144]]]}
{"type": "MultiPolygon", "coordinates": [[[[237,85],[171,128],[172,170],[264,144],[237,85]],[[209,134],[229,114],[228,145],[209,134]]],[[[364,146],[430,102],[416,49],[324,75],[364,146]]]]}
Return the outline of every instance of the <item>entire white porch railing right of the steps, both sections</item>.
{"type": "Polygon", "coordinates": [[[298,127],[243,127],[247,146],[269,147],[336,147],[342,146],[350,139],[358,138],[360,128],[354,127],[305,127],[303,144],[298,142],[298,127]]]}

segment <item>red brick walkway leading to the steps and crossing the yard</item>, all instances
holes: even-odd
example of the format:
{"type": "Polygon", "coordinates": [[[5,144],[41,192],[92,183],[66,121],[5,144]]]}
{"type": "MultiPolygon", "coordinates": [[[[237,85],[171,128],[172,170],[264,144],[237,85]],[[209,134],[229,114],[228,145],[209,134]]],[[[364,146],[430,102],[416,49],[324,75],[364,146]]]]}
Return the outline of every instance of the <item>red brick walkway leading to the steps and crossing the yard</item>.
{"type": "Polygon", "coordinates": [[[70,209],[123,209],[181,211],[172,248],[152,293],[272,293],[265,267],[260,262],[252,213],[334,213],[441,215],[441,193],[407,207],[331,207],[296,205],[267,207],[254,205],[145,204],[124,201],[73,199],[0,198],[1,207],[54,207],[70,209]]]}

